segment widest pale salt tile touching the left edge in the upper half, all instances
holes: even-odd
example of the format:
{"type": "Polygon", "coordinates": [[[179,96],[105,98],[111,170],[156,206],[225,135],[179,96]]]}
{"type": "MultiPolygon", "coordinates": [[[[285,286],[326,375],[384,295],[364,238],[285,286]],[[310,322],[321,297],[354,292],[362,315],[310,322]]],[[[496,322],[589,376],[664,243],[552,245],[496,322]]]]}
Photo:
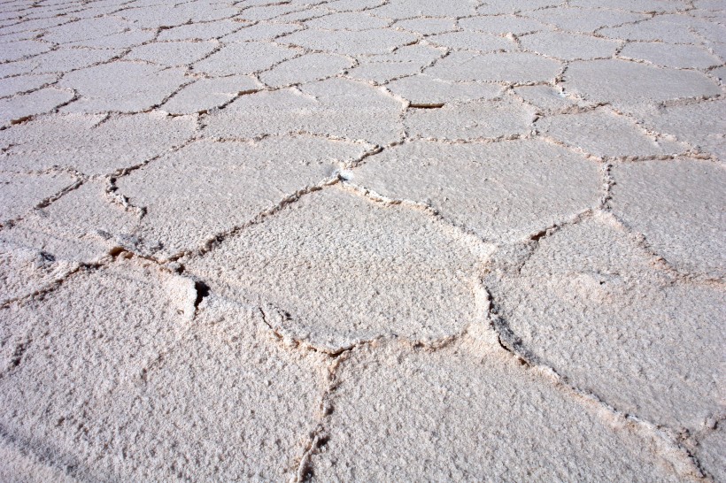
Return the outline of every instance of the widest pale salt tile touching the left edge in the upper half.
{"type": "Polygon", "coordinates": [[[189,140],[196,129],[191,117],[143,113],[103,118],[81,114],[48,116],[0,132],[10,144],[0,166],[42,170],[52,166],[85,174],[111,174],[141,165],[189,140]]]}

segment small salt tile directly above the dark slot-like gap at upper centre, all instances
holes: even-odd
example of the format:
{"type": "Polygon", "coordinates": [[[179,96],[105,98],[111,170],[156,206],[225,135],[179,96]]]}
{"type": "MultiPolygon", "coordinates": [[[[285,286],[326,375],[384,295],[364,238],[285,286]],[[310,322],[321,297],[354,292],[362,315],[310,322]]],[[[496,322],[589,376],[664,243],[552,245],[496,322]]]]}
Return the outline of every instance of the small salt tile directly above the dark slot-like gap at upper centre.
{"type": "Polygon", "coordinates": [[[438,80],[429,75],[413,75],[393,80],[386,85],[390,91],[407,100],[413,107],[432,107],[445,103],[492,99],[502,92],[498,84],[452,82],[438,80]]]}

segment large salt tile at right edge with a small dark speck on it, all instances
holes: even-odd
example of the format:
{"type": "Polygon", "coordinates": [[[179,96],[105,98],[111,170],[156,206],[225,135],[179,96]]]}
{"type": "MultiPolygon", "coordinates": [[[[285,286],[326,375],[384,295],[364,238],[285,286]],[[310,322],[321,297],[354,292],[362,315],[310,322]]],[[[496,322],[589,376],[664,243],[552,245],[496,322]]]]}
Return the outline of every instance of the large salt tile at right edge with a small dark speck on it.
{"type": "Polygon", "coordinates": [[[614,408],[690,430],[722,411],[726,293],[654,269],[607,215],[540,240],[520,269],[494,265],[485,284],[508,343],[614,408]]]}

